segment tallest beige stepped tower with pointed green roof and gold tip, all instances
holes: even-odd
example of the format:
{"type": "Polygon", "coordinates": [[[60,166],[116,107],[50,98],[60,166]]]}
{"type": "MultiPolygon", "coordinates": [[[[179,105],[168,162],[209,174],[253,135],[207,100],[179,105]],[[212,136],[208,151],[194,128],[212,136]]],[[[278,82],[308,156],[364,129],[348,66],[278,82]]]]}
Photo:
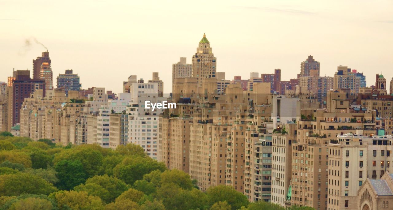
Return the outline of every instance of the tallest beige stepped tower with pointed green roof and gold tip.
{"type": "Polygon", "coordinates": [[[202,78],[216,78],[217,62],[210,42],[203,34],[200,40],[196,53],[192,58],[193,77],[197,79],[199,87],[202,86],[202,78]]]}

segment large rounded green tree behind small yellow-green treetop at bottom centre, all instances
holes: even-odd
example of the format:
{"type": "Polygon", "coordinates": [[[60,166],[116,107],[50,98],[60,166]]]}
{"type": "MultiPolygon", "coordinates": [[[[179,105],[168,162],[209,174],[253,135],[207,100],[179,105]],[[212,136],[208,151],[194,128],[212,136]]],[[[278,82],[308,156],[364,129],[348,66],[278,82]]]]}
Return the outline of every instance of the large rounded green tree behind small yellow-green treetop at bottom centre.
{"type": "Polygon", "coordinates": [[[218,185],[210,187],[207,192],[208,203],[213,205],[219,201],[227,201],[233,210],[248,206],[247,197],[230,186],[218,185]]]}

